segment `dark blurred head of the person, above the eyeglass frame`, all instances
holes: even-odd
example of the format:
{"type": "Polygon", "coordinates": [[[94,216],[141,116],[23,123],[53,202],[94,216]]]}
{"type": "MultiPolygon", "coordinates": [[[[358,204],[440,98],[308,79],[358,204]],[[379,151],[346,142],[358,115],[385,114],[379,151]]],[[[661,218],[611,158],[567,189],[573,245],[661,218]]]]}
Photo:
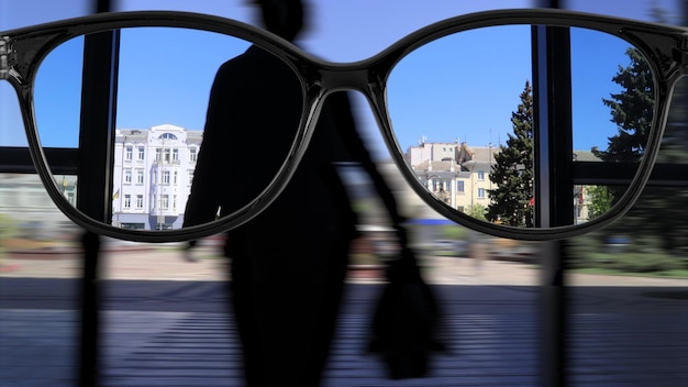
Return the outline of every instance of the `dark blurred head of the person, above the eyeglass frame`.
{"type": "Polygon", "coordinates": [[[306,21],[301,0],[254,0],[262,9],[265,29],[287,41],[293,41],[306,21]]]}

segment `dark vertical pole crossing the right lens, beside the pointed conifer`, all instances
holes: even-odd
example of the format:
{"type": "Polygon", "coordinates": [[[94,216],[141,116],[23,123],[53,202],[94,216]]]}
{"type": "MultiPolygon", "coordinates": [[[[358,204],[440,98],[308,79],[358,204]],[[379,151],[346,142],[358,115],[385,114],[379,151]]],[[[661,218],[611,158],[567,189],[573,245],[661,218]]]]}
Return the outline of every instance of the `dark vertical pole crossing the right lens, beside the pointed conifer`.
{"type": "MultiPolygon", "coordinates": [[[[569,30],[533,26],[535,107],[535,225],[572,224],[573,140],[569,30]]],[[[564,241],[541,244],[540,356],[543,387],[566,380],[566,284],[564,241]]]]}

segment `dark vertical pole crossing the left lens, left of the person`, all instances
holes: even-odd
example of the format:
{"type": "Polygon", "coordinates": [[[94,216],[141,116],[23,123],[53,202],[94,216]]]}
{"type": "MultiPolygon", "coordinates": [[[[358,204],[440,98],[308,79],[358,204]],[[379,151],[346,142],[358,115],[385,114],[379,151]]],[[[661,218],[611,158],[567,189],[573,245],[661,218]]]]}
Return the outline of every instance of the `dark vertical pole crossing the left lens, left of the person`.
{"type": "MultiPolygon", "coordinates": [[[[110,10],[108,0],[97,0],[96,11],[110,10]]],[[[108,222],[112,215],[111,165],[114,136],[114,96],[119,34],[104,32],[84,41],[81,120],[79,123],[79,173],[77,208],[85,214],[108,222]]],[[[86,232],[81,239],[81,327],[79,386],[99,385],[100,345],[100,235],[86,232]]]]}

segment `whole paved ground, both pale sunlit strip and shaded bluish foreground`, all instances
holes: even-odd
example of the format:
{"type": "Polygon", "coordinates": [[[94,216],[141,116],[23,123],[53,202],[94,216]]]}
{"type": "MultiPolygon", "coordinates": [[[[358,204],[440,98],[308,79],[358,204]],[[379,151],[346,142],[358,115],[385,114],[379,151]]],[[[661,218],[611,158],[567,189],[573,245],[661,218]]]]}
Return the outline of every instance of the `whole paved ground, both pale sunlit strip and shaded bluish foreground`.
{"type": "MultiPolygon", "coordinates": [[[[112,252],[106,263],[103,386],[242,385],[221,259],[186,263],[162,246],[112,252]]],[[[73,386],[78,261],[3,265],[11,269],[0,273],[0,385],[73,386]]],[[[324,386],[534,386],[539,270],[447,257],[425,265],[452,346],[436,356],[433,377],[387,380],[362,351],[379,284],[357,274],[324,386]]],[[[576,275],[570,283],[573,386],[688,386],[688,280],[576,275]]]]}

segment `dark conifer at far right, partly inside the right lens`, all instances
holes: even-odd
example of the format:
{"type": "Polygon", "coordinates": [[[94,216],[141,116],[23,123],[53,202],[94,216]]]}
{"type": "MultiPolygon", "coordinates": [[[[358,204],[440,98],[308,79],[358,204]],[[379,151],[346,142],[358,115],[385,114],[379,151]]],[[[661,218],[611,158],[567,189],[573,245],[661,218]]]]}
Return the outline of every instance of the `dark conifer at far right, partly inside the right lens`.
{"type": "MultiPolygon", "coordinates": [[[[619,71],[612,80],[621,86],[619,93],[612,93],[611,99],[603,99],[603,103],[611,108],[611,121],[618,125],[618,134],[609,137],[606,151],[595,151],[596,156],[611,163],[636,163],[643,156],[647,134],[653,121],[654,86],[652,73],[647,62],[635,48],[629,48],[626,55],[630,64],[619,66],[619,71]]],[[[679,95],[685,90],[678,89],[679,95]]],[[[680,117],[685,107],[672,107],[667,134],[659,152],[659,162],[685,163],[686,156],[683,136],[685,128],[680,125],[680,117]],[[678,109],[677,109],[678,108],[678,109]]],[[[615,198],[619,198],[625,187],[609,187],[615,198]]],[[[607,234],[624,233],[639,240],[643,235],[662,235],[662,248],[665,252],[684,250],[688,245],[686,222],[684,217],[676,212],[678,208],[688,204],[688,190],[678,187],[652,187],[646,189],[633,206],[633,209],[623,217],[623,221],[606,229],[607,234]]]]}

